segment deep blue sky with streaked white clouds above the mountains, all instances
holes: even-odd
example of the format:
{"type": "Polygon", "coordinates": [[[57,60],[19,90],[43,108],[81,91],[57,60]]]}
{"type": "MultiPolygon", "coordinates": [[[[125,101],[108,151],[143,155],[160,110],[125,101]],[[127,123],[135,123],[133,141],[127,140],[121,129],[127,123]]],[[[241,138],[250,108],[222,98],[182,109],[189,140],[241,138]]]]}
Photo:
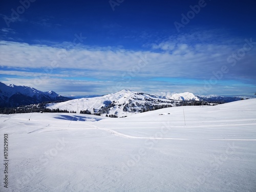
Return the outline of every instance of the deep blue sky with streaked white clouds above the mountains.
{"type": "Polygon", "coordinates": [[[64,95],[254,95],[255,1],[0,3],[0,81],[64,95]]]}

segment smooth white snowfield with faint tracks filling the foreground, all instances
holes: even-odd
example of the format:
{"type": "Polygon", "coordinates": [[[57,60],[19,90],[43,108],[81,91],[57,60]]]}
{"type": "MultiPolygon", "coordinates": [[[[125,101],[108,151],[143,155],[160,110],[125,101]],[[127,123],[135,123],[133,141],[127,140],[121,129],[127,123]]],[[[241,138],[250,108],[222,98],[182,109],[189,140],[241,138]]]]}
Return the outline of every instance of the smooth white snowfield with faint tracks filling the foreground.
{"type": "Polygon", "coordinates": [[[256,99],[126,118],[0,117],[0,191],[256,191],[256,99]]]}

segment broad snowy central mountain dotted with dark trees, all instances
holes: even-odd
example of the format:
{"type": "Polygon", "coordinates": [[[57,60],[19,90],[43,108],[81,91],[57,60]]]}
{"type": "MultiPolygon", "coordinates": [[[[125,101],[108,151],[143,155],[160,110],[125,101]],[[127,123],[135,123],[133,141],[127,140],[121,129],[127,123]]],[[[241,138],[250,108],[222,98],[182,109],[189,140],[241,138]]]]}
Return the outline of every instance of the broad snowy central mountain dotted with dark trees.
{"type": "Polygon", "coordinates": [[[47,108],[76,111],[80,113],[91,113],[111,115],[111,116],[129,116],[131,114],[151,111],[173,106],[180,101],[158,98],[157,96],[138,93],[130,90],[122,90],[117,93],[104,95],[94,98],[73,99],[61,103],[49,103],[47,108]]]}

